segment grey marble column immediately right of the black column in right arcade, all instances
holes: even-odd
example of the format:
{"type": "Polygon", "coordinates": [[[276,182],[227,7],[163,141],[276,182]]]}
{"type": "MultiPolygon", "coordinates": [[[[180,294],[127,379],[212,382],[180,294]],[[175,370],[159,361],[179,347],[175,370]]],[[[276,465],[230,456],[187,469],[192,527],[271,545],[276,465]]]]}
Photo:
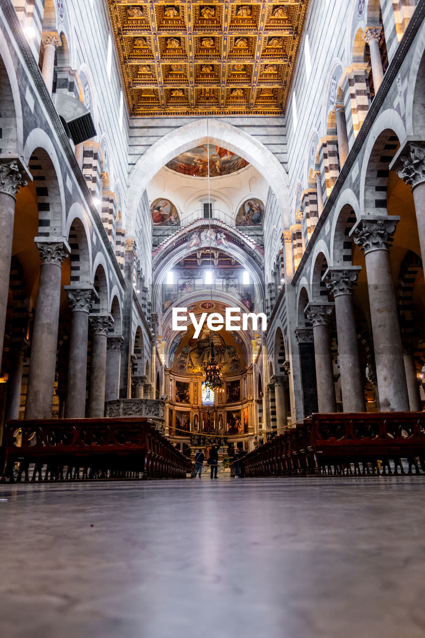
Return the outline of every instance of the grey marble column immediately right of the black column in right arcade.
{"type": "Polygon", "coordinates": [[[308,320],[313,325],[319,412],[336,412],[331,335],[329,334],[333,308],[334,304],[308,304],[307,307],[308,320]]]}

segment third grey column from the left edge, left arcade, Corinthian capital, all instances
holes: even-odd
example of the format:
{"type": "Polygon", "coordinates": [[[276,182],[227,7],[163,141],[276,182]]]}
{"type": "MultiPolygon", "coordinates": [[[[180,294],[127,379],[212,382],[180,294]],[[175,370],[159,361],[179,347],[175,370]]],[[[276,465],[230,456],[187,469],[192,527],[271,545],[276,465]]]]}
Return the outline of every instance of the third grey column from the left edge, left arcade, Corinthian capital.
{"type": "Polygon", "coordinates": [[[65,418],[84,419],[86,416],[89,312],[93,304],[93,289],[68,288],[67,292],[71,309],[71,336],[65,418]]]}

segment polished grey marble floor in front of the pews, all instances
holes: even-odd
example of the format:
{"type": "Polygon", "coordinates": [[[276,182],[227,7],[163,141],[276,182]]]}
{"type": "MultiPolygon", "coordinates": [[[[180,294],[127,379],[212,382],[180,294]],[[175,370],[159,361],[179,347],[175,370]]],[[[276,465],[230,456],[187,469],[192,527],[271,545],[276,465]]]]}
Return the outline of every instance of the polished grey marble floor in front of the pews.
{"type": "Polygon", "coordinates": [[[424,638],[424,477],[0,485],[1,638],[424,638]]]}

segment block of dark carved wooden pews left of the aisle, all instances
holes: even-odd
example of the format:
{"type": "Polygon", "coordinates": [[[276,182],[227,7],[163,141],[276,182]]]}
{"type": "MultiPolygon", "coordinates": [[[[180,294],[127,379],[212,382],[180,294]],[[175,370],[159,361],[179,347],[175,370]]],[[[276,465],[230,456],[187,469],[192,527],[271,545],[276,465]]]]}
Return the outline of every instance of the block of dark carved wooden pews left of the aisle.
{"type": "Polygon", "coordinates": [[[17,480],[183,479],[186,457],[147,420],[8,421],[3,476],[17,480]],[[31,468],[30,468],[31,466],[31,468]]]}

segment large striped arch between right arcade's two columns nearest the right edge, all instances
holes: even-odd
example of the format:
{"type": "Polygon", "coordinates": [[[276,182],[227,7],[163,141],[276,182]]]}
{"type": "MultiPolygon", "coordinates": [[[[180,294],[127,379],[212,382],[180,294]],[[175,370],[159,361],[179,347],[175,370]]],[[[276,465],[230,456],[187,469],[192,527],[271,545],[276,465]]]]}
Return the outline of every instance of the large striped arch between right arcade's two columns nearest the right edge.
{"type": "Polygon", "coordinates": [[[389,165],[405,138],[405,127],[395,111],[382,113],[369,133],[360,181],[360,206],[364,214],[387,215],[389,165]]]}

